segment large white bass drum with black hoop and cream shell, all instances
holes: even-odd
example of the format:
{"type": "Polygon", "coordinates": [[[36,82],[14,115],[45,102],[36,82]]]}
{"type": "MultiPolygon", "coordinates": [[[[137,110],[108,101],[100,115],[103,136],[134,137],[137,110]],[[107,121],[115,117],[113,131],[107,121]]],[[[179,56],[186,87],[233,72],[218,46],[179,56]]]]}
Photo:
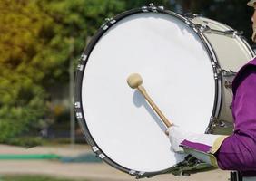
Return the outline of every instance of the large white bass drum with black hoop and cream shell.
{"type": "Polygon", "coordinates": [[[84,50],[75,83],[76,118],[97,156],[130,175],[209,167],[170,150],[162,121],[126,79],[140,73],[153,100],[180,127],[230,133],[227,124],[218,125],[219,118],[232,121],[223,75],[251,58],[248,44],[223,24],[153,5],[133,9],[103,24],[84,50]]]}

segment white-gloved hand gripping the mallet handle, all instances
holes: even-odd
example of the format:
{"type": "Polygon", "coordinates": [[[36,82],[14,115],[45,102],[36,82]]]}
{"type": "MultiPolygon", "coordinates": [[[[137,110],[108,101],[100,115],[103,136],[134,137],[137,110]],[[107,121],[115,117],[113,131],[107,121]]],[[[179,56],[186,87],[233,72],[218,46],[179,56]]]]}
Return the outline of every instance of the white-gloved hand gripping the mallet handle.
{"type": "Polygon", "coordinates": [[[174,125],[166,130],[166,134],[168,135],[172,145],[172,151],[177,153],[184,153],[184,149],[180,147],[180,145],[182,141],[185,140],[188,136],[186,133],[186,131],[174,125]]]}

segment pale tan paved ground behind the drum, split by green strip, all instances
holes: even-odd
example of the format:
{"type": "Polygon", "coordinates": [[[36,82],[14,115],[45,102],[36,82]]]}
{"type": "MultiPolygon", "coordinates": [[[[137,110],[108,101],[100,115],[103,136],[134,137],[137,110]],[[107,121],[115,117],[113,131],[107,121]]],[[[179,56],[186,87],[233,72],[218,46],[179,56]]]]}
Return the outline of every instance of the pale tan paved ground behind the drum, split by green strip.
{"type": "MultiPolygon", "coordinates": [[[[58,154],[61,156],[76,156],[91,153],[85,146],[36,147],[19,148],[0,145],[0,154],[58,154]]],[[[88,178],[90,181],[131,181],[135,180],[113,167],[104,163],[61,163],[47,160],[1,160],[0,174],[43,174],[48,176],[88,178]]],[[[228,181],[229,172],[213,170],[192,176],[162,175],[144,178],[141,181],[228,181]]]]}

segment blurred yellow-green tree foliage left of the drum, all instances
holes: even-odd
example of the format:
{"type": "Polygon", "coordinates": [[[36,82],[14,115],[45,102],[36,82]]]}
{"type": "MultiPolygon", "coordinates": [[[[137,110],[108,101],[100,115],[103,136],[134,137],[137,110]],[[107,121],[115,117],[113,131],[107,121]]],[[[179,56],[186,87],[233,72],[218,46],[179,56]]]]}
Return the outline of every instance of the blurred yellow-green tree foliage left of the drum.
{"type": "Polygon", "coordinates": [[[0,142],[53,118],[49,88],[68,81],[72,54],[123,9],[118,0],[0,1],[0,142]]]}

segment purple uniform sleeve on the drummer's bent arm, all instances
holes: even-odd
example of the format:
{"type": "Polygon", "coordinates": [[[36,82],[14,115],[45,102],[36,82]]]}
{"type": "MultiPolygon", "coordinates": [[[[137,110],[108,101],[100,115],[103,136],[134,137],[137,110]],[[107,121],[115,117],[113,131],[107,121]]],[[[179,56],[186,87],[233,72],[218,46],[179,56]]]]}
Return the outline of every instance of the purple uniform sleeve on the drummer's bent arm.
{"type": "Polygon", "coordinates": [[[225,170],[256,171],[255,67],[241,74],[232,105],[235,129],[216,153],[218,165],[225,170]]]}

